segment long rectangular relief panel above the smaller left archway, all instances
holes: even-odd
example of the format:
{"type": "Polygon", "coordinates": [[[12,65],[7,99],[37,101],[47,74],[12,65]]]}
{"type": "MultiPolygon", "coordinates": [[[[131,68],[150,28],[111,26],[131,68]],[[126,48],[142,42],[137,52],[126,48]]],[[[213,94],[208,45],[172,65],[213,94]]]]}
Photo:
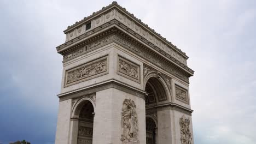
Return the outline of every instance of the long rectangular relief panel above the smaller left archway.
{"type": "Polygon", "coordinates": [[[66,70],[65,86],[91,79],[108,73],[108,56],[104,56],[78,67],[66,70]]]}

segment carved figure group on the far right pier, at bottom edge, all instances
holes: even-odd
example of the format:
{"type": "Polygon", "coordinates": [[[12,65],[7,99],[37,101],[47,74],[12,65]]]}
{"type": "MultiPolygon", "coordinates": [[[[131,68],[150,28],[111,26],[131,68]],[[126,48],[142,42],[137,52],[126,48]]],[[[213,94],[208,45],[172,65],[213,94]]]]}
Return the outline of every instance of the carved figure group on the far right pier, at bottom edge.
{"type": "Polygon", "coordinates": [[[192,135],[189,130],[190,120],[189,118],[185,118],[183,115],[179,119],[179,126],[181,127],[181,143],[182,144],[191,144],[192,135]]]}

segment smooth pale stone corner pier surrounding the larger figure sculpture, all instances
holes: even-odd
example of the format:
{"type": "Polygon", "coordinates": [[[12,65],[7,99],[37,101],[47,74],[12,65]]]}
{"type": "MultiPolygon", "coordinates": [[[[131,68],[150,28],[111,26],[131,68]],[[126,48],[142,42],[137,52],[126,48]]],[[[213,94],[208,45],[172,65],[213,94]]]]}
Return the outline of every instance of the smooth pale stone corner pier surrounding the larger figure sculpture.
{"type": "Polygon", "coordinates": [[[96,93],[97,104],[94,119],[93,144],[122,143],[122,107],[125,99],[131,99],[136,104],[137,140],[141,144],[146,144],[144,99],[115,88],[105,89],[96,93]]]}

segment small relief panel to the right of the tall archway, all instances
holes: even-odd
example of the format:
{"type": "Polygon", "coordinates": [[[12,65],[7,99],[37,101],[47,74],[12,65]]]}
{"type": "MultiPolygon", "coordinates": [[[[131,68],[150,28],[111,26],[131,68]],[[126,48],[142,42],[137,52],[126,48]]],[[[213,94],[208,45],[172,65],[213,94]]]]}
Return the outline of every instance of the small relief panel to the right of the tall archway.
{"type": "Polygon", "coordinates": [[[175,85],[175,96],[176,99],[183,103],[189,104],[188,90],[181,86],[175,85]]]}

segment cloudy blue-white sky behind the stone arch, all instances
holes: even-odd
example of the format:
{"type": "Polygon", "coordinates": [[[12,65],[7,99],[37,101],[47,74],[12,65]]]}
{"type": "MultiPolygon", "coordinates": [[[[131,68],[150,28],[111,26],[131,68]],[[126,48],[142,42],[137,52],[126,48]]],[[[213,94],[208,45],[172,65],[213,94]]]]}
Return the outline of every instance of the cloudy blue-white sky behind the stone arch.
{"type": "MultiPolygon", "coordinates": [[[[54,143],[63,30],[112,1],[0,1],[0,143],[54,143]]],[[[177,45],[190,79],[194,141],[256,141],[256,2],[118,1],[177,45]]]]}

